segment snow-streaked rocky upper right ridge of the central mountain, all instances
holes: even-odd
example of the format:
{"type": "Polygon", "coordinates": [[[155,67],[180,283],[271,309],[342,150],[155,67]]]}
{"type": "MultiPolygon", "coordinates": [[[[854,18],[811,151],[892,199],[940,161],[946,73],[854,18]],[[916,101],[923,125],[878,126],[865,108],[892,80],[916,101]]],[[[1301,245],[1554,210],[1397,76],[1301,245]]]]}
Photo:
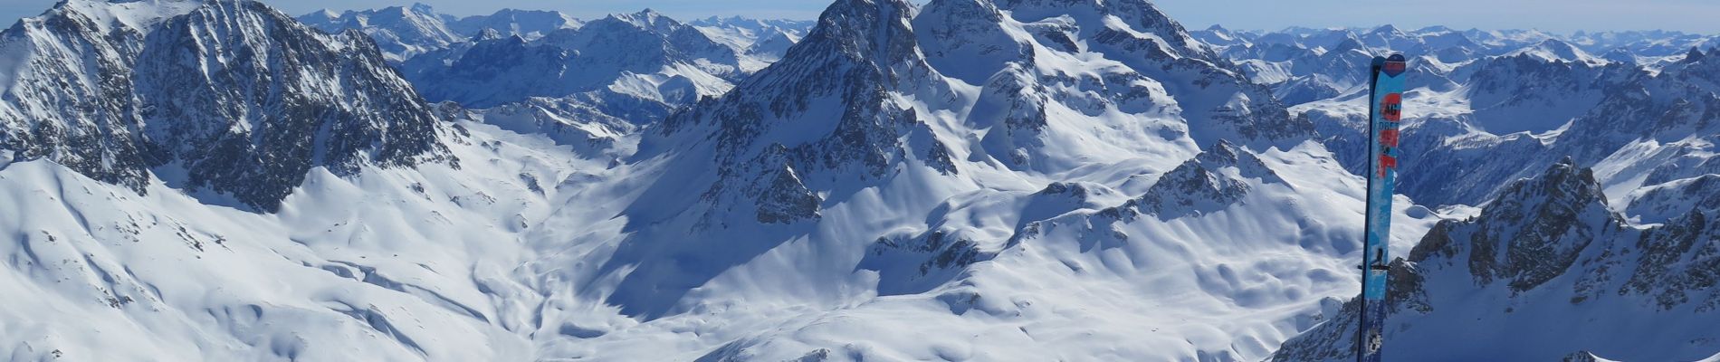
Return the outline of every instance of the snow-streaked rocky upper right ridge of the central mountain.
{"type": "MultiPolygon", "coordinates": [[[[1097,112],[1094,108],[1109,103],[1135,113],[1175,105],[1180,108],[1178,118],[1185,122],[1187,130],[1183,132],[1201,146],[1228,139],[1247,148],[1264,149],[1264,144],[1293,144],[1295,139],[1302,139],[1312,130],[1305,120],[1290,118],[1283,112],[1283,105],[1273,100],[1269,89],[1249,82],[1242,72],[1218,62],[1204,45],[1195,43],[1180,24],[1164,17],[1151,3],[1133,0],[1004,0],[996,3],[1011,17],[1008,21],[1020,22],[1020,27],[1034,34],[1032,41],[1042,46],[1022,46],[1032,50],[1032,63],[1023,65],[1029,77],[1058,82],[1068,77],[1063,74],[1097,72],[1090,77],[1104,79],[1104,82],[1094,86],[1108,87],[1101,94],[1116,94],[1115,100],[1097,105],[1060,101],[1072,110],[1094,115],[1097,112]],[[1092,55],[1109,62],[1070,62],[1070,58],[1092,58],[1092,55]]],[[[994,36],[987,34],[977,39],[989,38],[994,36]]],[[[999,51],[987,58],[965,55],[955,58],[975,58],[968,65],[989,65],[999,62],[994,58],[1008,60],[1008,57],[1017,55],[1017,51],[1010,51],[1013,45],[1006,41],[980,41],[979,45],[975,46],[979,50],[996,48],[999,51]]],[[[927,46],[927,55],[934,60],[937,51],[941,50],[927,46]]],[[[946,74],[965,81],[975,77],[961,75],[963,72],[986,69],[951,67],[939,62],[934,65],[941,65],[939,70],[949,69],[946,74]]],[[[1061,86],[1085,87],[1077,84],[1044,86],[1053,89],[1061,86]]],[[[1056,98],[1078,100],[1082,96],[1063,94],[1056,98]]]]}

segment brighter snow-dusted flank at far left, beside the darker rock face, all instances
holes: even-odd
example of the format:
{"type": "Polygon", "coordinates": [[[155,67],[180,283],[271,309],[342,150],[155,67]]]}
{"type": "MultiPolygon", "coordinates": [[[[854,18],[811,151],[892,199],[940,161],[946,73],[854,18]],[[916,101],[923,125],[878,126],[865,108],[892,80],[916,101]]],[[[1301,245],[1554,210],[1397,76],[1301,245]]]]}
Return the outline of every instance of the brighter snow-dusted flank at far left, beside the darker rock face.
{"type": "Polygon", "coordinates": [[[131,100],[144,34],[200,2],[72,0],[0,33],[0,148],[143,190],[150,146],[131,100]]]}

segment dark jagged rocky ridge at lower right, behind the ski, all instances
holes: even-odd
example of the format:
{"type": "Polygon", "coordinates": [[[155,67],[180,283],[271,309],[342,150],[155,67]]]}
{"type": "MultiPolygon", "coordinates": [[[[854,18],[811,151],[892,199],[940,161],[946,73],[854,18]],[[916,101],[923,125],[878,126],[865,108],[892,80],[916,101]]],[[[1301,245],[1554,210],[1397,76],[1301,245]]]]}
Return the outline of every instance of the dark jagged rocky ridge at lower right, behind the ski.
{"type": "MultiPolygon", "coordinates": [[[[1720,223],[1711,213],[1634,226],[1606,208],[1593,172],[1555,163],[1505,187],[1477,218],[1441,221],[1407,261],[1393,262],[1386,343],[1412,360],[1560,359],[1569,350],[1622,360],[1708,357],[1720,348],[1705,328],[1720,321],[1720,223]],[[1545,328],[1574,319],[1644,338],[1545,328]]],[[[1354,305],[1287,341],[1273,360],[1350,359],[1354,305]]]]}

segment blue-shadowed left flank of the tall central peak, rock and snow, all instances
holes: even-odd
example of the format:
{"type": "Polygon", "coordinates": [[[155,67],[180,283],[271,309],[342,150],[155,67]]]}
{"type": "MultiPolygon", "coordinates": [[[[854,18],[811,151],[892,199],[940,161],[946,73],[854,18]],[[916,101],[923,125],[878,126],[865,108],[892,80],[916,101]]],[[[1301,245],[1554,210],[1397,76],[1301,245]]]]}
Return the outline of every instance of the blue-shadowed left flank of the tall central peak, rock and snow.
{"type": "Polygon", "coordinates": [[[635,160],[669,163],[650,189],[685,197],[631,206],[630,228],[642,232],[612,262],[636,269],[605,302],[635,317],[673,316],[697,287],[685,280],[716,278],[784,240],[776,237],[872,218],[827,218],[857,192],[951,178],[951,151],[908,101],[941,82],[913,45],[912,14],[903,0],[839,0],[781,62],[643,136],[635,160]],[[734,242],[710,250],[688,233],[734,242]],[[678,262],[659,262],[669,259],[678,262]]]}

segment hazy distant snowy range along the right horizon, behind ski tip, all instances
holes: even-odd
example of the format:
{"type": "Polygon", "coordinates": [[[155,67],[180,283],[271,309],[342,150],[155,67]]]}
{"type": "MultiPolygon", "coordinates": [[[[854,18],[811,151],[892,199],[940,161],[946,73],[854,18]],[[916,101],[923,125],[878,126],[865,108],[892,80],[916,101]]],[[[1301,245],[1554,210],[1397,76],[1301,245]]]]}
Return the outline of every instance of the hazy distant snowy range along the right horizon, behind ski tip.
{"type": "Polygon", "coordinates": [[[1720,46],[1715,43],[1717,36],[1675,31],[1579,31],[1565,36],[1541,31],[1455,31],[1441,26],[1414,31],[1393,26],[1283,31],[1235,31],[1213,26],[1190,34],[1216,48],[1221,57],[1237,62],[1256,82],[1273,86],[1275,94],[1288,103],[1326,100],[1361,86],[1359,77],[1366,75],[1364,72],[1345,72],[1354,70],[1347,69],[1350,63],[1333,63],[1333,58],[1350,51],[1369,57],[1385,51],[1405,53],[1421,60],[1417,62],[1421,65],[1412,67],[1422,67],[1428,74],[1414,79],[1443,81],[1453,77],[1450,70],[1460,70],[1462,65],[1488,57],[1531,55],[1591,65],[1658,67],[1679,60],[1691,48],[1720,46]]]}

